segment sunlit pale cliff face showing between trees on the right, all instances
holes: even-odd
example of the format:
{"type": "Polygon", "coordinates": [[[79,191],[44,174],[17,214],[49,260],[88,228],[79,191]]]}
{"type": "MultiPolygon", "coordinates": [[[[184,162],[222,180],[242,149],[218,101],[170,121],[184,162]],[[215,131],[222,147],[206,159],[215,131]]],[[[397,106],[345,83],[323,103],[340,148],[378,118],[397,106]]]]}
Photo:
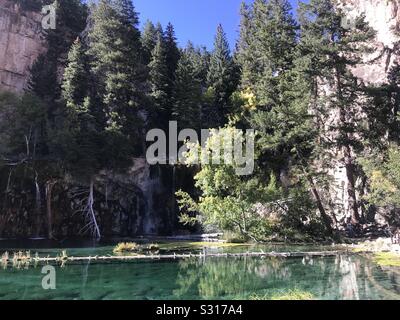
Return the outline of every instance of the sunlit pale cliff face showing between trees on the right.
{"type": "MultiPolygon", "coordinates": [[[[364,57],[364,64],[353,69],[353,73],[364,83],[380,85],[387,82],[388,72],[395,63],[400,63],[400,0],[338,0],[338,7],[347,12],[349,19],[365,15],[365,20],[376,31],[373,52],[364,57]]],[[[328,89],[329,91],[329,89],[328,89]]],[[[338,115],[334,115],[337,119],[338,115]]],[[[346,170],[341,161],[342,154],[336,154],[332,163],[330,198],[336,208],[338,219],[349,217],[350,206],[347,190],[346,170]]],[[[364,192],[363,177],[356,181],[360,193],[364,192]]],[[[358,200],[360,200],[360,193],[358,200]]],[[[380,219],[376,216],[376,219],[380,219]]]]}

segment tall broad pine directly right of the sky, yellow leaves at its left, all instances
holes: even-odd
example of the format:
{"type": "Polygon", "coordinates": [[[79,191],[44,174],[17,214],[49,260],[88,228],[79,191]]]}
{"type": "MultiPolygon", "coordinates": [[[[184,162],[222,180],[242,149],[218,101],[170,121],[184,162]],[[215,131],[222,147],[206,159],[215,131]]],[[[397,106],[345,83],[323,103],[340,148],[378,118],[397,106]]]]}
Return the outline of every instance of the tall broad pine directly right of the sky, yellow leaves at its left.
{"type": "MultiPolygon", "coordinates": [[[[241,96],[248,100],[244,110],[250,125],[257,130],[258,173],[267,179],[272,174],[284,187],[283,198],[299,199],[288,203],[287,219],[302,225],[302,211],[312,212],[309,192],[330,233],[331,220],[310,171],[316,131],[309,113],[309,81],[297,51],[298,26],[288,1],[256,0],[242,5],[241,34],[237,45],[240,64],[241,96]],[[298,54],[298,55],[297,55],[298,54]],[[293,181],[290,177],[296,175],[293,181]],[[290,218],[289,218],[290,217],[290,218]]],[[[311,217],[311,213],[309,218],[311,217]]]]}

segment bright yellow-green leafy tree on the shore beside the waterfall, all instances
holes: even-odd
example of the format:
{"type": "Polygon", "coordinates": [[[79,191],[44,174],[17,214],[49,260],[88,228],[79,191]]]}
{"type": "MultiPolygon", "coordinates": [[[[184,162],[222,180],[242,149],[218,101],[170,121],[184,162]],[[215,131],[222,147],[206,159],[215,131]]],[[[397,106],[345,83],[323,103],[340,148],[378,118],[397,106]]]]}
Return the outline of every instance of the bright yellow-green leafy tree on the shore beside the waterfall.
{"type": "MultiPolygon", "coordinates": [[[[211,156],[213,146],[231,135],[233,128],[214,131],[207,141],[207,156],[211,156]]],[[[186,164],[197,159],[199,149],[189,145],[186,164]]],[[[196,187],[201,190],[198,201],[180,191],[177,193],[182,212],[181,222],[201,222],[203,225],[216,225],[220,230],[232,231],[248,239],[266,239],[271,231],[271,221],[258,212],[257,204],[269,205],[281,199],[282,191],[276,186],[274,176],[263,184],[256,178],[238,176],[234,164],[224,163],[222,155],[214,155],[213,161],[220,165],[202,165],[196,174],[196,187]],[[217,160],[218,159],[218,160],[217,160]],[[196,216],[196,213],[200,213],[196,216]]]]}

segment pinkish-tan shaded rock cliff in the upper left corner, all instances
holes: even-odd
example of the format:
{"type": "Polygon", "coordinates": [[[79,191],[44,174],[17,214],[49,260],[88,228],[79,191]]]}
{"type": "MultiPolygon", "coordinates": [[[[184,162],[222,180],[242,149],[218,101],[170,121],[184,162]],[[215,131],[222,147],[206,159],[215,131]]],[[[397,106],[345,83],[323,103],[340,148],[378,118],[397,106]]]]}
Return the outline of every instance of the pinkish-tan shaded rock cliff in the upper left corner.
{"type": "Polygon", "coordinates": [[[0,0],[0,90],[21,92],[29,68],[46,50],[42,16],[23,11],[9,0],[0,0]]]}

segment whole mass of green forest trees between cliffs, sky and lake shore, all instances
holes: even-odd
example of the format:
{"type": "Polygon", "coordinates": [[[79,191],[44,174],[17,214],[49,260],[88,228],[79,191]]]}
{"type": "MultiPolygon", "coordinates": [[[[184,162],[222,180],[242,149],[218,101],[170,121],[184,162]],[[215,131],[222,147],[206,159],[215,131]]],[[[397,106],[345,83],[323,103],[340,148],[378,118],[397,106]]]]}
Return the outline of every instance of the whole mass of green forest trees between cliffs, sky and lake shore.
{"type": "MultiPolygon", "coordinates": [[[[24,10],[43,3],[18,2],[24,10]]],[[[238,176],[223,162],[202,166],[194,177],[199,192],[177,193],[183,223],[253,240],[330,233],[335,208],[323,193],[332,150],[343,155],[354,221],[361,152],[377,154],[360,161],[371,189],[365,200],[399,206],[400,67],[381,86],[366,87],[354,76],[374,35],[363,17],[345,29],[331,0],[302,3],[298,20],[287,0],[244,3],[232,55],[221,25],[212,52],[191,43],[179,50],[172,24],[164,31],[148,21],[140,33],[130,0],[99,0],[89,19],[80,0],[56,5],[57,28],[32,66],[30,93],[0,94],[4,172],[22,161],[43,180],[87,182],[142,156],[146,126],[165,128],[171,119],[196,130],[229,123],[222,136],[233,126],[256,130],[254,174],[238,176]],[[336,111],[339,120],[326,125],[336,111]],[[35,159],[48,163],[42,168],[35,159]]],[[[187,156],[193,164],[194,153],[187,156]]]]}

